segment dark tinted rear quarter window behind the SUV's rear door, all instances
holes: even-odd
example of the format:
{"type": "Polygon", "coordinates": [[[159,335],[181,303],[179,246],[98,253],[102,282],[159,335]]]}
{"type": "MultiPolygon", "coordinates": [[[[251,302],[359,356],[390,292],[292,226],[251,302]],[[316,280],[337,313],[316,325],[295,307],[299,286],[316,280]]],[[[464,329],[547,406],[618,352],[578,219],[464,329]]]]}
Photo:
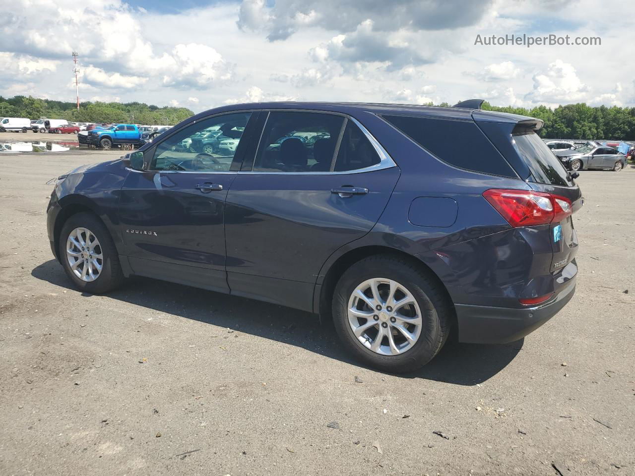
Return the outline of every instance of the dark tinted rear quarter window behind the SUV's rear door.
{"type": "Polygon", "coordinates": [[[500,152],[472,121],[410,116],[382,117],[443,162],[474,172],[518,178],[500,152]]]}

